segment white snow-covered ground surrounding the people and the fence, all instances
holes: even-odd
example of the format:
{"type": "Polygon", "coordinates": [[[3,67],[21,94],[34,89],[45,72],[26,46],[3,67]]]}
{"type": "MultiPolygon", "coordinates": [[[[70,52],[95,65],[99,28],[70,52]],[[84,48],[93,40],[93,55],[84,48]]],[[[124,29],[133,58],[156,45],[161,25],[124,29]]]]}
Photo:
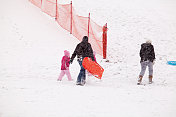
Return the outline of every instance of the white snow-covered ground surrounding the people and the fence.
{"type": "MultiPolygon", "coordinates": [[[[59,0],[60,3],[70,3],[59,0]]],[[[175,117],[175,0],[74,0],[83,16],[108,23],[108,59],[97,56],[105,72],[76,86],[60,73],[63,51],[78,42],[53,18],[28,0],[0,0],[0,117],[175,117]],[[146,39],[155,47],[154,84],[146,72],[137,86],[139,49],[146,39]]]]}

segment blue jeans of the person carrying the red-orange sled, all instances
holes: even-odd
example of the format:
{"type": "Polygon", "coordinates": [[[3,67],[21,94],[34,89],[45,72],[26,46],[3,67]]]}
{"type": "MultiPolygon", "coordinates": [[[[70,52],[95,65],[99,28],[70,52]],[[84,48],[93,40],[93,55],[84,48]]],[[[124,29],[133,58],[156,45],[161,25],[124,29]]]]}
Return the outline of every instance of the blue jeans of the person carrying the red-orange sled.
{"type": "Polygon", "coordinates": [[[78,60],[78,63],[80,65],[81,69],[80,69],[80,72],[79,72],[79,75],[77,78],[77,82],[85,81],[86,80],[86,74],[85,74],[86,72],[85,72],[84,67],[82,66],[82,61],[78,60]]]}

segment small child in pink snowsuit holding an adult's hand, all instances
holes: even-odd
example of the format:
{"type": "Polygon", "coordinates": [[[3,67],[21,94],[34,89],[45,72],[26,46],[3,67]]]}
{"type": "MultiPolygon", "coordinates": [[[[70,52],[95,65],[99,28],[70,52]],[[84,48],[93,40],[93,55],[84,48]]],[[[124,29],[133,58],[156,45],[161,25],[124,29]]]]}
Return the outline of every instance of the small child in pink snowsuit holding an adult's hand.
{"type": "Polygon", "coordinates": [[[70,62],[70,53],[69,51],[65,50],[64,51],[64,56],[62,57],[62,61],[61,61],[61,73],[59,75],[58,80],[61,81],[63,76],[66,74],[67,78],[69,81],[72,81],[71,75],[70,75],[70,71],[69,71],[69,62],[70,62]]]}

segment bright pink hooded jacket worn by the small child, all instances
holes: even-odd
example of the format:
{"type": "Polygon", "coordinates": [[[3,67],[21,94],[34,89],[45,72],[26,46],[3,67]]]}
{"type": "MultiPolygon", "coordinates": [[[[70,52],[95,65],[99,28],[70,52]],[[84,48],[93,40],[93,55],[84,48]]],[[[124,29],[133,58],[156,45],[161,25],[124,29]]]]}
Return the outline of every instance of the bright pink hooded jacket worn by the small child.
{"type": "Polygon", "coordinates": [[[70,53],[69,51],[64,51],[64,56],[62,57],[61,61],[61,70],[69,70],[69,62],[70,62],[70,53]]]}

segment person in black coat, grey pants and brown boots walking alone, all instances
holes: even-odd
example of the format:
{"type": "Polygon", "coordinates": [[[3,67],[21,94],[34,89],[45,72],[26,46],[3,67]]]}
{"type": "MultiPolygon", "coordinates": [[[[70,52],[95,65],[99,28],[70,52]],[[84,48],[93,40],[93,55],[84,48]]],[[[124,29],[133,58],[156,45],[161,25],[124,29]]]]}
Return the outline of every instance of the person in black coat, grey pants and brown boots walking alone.
{"type": "Polygon", "coordinates": [[[146,43],[141,44],[140,57],[141,72],[139,74],[137,84],[141,84],[147,66],[149,68],[149,84],[151,84],[153,78],[153,65],[155,61],[155,51],[151,44],[151,40],[147,40],[146,43]]]}

